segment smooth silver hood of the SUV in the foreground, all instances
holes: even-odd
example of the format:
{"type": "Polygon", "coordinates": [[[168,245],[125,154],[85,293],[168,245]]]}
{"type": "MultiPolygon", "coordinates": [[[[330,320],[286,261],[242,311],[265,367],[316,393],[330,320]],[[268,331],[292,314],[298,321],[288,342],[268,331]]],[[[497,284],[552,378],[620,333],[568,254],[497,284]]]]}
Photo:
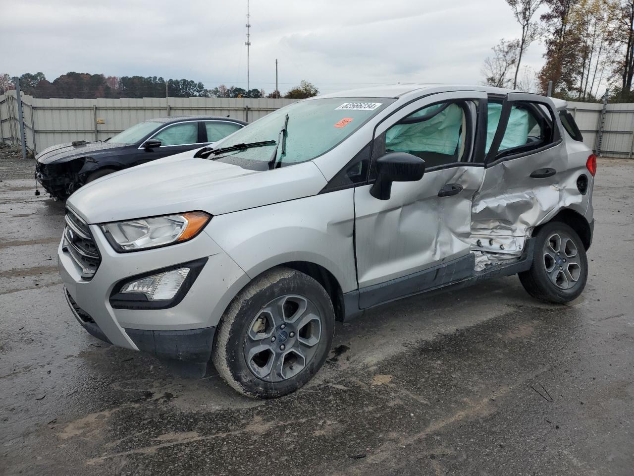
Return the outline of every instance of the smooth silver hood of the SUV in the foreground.
{"type": "Polygon", "coordinates": [[[67,201],[87,223],[202,210],[222,215],[316,195],[326,179],[313,162],[256,171],[172,155],[84,185],[67,201]]]}

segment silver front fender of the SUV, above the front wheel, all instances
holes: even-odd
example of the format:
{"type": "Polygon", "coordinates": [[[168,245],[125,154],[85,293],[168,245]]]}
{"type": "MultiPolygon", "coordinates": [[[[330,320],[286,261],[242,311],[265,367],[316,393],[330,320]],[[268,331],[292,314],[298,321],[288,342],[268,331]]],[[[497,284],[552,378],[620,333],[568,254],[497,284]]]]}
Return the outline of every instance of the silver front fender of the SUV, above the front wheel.
{"type": "Polygon", "coordinates": [[[357,289],[354,190],[214,216],[205,232],[253,279],[289,261],[327,269],[343,293],[357,289]]]}

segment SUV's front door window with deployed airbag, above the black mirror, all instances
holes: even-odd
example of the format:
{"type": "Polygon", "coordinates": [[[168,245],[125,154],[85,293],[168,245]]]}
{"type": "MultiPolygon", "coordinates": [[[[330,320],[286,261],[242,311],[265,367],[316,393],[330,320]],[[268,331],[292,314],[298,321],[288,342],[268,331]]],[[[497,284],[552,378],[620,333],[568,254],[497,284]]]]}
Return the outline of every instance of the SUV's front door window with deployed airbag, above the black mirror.
{"type": "Polygon", "coordinates": [[[465,102],[434,104],[404,117],[385,131],[385,152],[417,155],[427,168],[466,160],[465,102]]]}

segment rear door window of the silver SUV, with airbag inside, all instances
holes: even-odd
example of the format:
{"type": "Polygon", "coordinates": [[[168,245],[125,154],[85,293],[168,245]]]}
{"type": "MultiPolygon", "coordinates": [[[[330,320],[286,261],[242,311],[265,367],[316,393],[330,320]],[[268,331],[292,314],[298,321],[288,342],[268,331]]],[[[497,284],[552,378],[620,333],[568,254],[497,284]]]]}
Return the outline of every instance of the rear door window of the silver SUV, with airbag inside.
{"type": "MultiPolygon", "coordinates": [[[[489,102],[486,150],[491,143],[500,123],[502,104],[489,102]]],[[[552,119],[548,119],[545,110],[537,103],[513,103],[508,123],[502,137],[497,156],[519,154],[552,142],[552,119]]]]}

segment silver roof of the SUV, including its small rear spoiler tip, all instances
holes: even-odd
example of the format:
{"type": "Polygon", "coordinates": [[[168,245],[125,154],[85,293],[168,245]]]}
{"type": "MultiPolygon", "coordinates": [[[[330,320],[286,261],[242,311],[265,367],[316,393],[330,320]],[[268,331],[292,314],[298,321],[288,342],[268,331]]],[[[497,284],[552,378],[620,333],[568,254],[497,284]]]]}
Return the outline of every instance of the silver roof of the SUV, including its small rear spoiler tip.
{"type": "MultiPolygon", "coordinates": [[[[523,93],[516,89],[493,88],[492,86],[482,86],[479,84],[386,84],[385,86],[372,86],[371,88],[347,89],[338,93],[320,95],[320,98],[398,98],[412,93],[413,91],[425,91],[425,89],[444,89],[446,91],[484,91],[489,94],[507,95],[508,93],[523,93]]],[[[566,101],[550,98],[557,109],[566,107],[566,101]]]]}

